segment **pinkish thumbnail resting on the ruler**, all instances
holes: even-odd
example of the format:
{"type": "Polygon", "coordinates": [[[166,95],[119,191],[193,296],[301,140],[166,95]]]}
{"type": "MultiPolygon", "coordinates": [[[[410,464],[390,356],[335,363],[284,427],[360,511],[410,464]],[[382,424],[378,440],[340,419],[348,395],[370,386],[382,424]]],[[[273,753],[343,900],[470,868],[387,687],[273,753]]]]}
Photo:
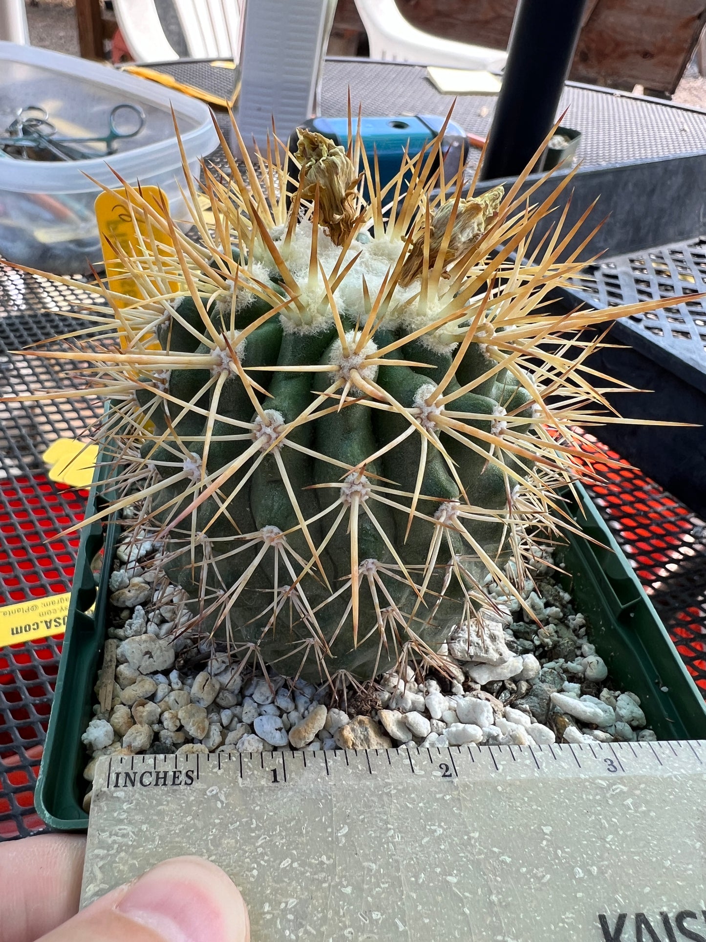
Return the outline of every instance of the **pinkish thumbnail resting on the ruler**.
{"type": "Polygon", "coordinates": [[[116,908],[166,942],[241,942],[248,937],[240,893],[221,869],[196,857],[159,864],[127,890],[116,908]]]}

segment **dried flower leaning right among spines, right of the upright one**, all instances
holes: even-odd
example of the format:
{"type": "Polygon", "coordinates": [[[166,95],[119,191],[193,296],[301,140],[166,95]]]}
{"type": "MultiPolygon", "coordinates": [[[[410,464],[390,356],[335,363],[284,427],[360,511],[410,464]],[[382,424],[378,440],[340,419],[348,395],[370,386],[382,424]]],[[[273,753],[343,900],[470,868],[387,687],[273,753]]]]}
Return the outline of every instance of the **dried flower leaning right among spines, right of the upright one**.
{"type": "MultiPolygon", "coordinates": [[[[490,220],[497,213],[504,194],[505,189],[502,186],[493,187],[480,196],[458,201],[450,237],[447,236],[448,246],[444,251],[443,268],[447,268],[481,240],[490,220]]],[[[454,201],[449,200],[448,203],[443,203],[431,218],[428,245],[429,268],[433,268],[436,264],[444,235],[451,223],[453,210],[454,201]]],[[[424,254],[425,227],[423,226],[405,259],[400,276],[401,284],[411,284],[415,278],[419,278],[424,268],[424,254]]]]}

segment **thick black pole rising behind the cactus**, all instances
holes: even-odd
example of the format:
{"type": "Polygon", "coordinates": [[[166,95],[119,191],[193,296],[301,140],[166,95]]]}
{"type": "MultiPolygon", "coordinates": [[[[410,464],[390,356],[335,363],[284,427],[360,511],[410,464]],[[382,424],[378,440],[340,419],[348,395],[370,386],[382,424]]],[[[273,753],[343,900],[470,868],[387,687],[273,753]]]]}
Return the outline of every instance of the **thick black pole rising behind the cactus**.
{"type": "Polygon", "coordinates": [[[520,0],[481,177],[517,176],[556,120],[586,0],[520,0]]]}

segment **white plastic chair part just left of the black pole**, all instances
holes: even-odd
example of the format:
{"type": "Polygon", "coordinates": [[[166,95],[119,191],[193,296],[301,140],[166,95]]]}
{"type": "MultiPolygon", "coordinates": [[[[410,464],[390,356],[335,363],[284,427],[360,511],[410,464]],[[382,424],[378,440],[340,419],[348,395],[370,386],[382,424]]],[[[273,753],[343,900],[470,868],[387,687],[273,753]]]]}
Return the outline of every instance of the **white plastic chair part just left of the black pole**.
{"type": "Polygon", "coordinates": [[[365,32],[370,57],[450,69],[483,69],[502,72],[507,54],[498,49],[442,40],[408,23],[394,0],[355,0],[365,32]]]}

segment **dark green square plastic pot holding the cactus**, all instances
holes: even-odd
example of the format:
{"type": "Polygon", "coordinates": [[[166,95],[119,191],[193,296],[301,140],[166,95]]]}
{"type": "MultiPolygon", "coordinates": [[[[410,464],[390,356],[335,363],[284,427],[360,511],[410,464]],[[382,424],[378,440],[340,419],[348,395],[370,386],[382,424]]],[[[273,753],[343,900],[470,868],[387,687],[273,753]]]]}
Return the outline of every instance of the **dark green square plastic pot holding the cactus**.
{"type": "MultiPolygon", "coordinates": [[[[96,506],[93,486],[88,513],[96,506]]],[[[569,511],[589,542],[566,533],[557,560],[565,568],[564,588],[589,622],[610,674],[624,690],[639,696],[650,727],[661,739],[706,739],[706,706],[666,629],[601,515],[581,486],[569,511]]],[[[569,497],[569,495],[567,495],[569,497]]],[[[94,524],[81,540],[63,654],[56,680],[35,806],[42,820],[59,831],[85,831],[81,803],[86,790],[86,753],[81,735],[92,716],[93,687],[103,657],[108,580],[117,524],[94,524]],[[104,565],[96,592],[90,562],[103,545],[104,565]],[[95,602],[91,615],[87,614],[95,602]]]]}

